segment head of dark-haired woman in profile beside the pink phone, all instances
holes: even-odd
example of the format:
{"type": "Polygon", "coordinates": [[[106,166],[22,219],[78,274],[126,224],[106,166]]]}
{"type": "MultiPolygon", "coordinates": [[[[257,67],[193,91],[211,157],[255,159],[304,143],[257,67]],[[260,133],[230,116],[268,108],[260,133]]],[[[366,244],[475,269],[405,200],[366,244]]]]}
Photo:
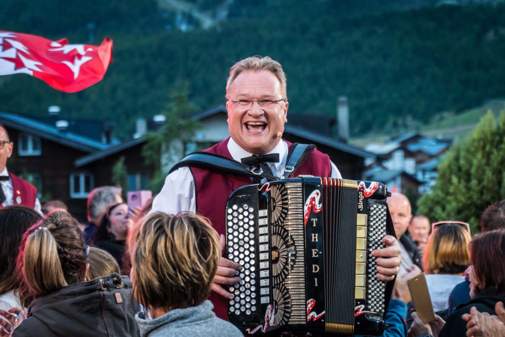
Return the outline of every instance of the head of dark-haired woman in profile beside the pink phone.
{"type": "Polygon", "coordinates": [[[125,240],[131,220],[128,218],[128,205],[121,203],[107,209],[95,234],[95,242],[125,240]]]}

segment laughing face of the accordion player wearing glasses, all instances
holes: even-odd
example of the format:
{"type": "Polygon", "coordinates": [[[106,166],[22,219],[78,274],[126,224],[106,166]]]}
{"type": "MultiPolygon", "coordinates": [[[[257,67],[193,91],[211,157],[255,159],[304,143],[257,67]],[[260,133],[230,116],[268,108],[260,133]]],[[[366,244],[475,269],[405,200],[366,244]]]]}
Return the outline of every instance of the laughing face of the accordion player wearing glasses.
{"type": "MultiPolygon", "coordinates": [[[[240,73],[229,86],[227,96],[233,101],[284,99],[279,80],[267,70],[240,73]]],[[[258,102],[242,108],[228,100],[230,136],[247,152],[264,155],[272,151],[280,141],[277,133],[284,131],[287,107],[288,103],[281,101],[272,108],[261,108],[258,102]]]]}

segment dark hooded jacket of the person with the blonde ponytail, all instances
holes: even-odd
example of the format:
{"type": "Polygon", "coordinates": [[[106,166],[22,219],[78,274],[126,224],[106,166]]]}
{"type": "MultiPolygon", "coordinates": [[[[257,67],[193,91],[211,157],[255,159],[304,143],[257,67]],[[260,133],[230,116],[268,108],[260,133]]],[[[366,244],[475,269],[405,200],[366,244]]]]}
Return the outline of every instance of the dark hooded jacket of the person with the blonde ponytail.
{"type": "Polygon", "coordinates": [[[131,281],[113,275],[37,298],[13,337],[138,336],[131,281]]]}

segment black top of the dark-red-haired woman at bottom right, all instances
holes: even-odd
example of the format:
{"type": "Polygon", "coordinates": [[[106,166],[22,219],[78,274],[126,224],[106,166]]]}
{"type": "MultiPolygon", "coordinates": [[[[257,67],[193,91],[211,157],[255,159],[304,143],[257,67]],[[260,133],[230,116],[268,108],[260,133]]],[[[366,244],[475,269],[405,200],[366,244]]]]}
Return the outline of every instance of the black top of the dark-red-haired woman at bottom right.
{"type": "Polygon", "coordinates": [[[438,337],[466,336],[467,322],[464,321],[461,316],[463,314],[469,314],[472,307],[476,307],[480,312],[487,312],[490,315],[496,315],[494,305],[499,301],[505,303],[505,297],[494,296],[489,289],[484,289],[482,292],[477,294],[473,300],[460,305],[457,310],[453,312],[449,318],[447,318],[447,321],[445,322],[445,325],[440,331],[438,337]]]}

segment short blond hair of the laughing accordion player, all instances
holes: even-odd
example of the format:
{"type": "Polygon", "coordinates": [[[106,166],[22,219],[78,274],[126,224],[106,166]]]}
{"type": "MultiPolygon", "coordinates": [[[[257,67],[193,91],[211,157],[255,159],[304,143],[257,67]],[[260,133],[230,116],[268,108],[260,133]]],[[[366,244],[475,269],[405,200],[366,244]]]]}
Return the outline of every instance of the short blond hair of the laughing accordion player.
{"type": "Polygon", "coordinates": [[[280,83],[281,94],[283,99],[287,100],[287,92],[286,92],[286,74],[284,70],[282,70],[282,66],[279,62],[272,60],[270,57],[265,56],[251,56],[247,59],[243,59],[235,63],[230,68],[230,76],[226,80],[226,92],[230,88],[231,84],[237,78],[240,73],[247,70],[267,70],[277,77],[280,83]]]}

